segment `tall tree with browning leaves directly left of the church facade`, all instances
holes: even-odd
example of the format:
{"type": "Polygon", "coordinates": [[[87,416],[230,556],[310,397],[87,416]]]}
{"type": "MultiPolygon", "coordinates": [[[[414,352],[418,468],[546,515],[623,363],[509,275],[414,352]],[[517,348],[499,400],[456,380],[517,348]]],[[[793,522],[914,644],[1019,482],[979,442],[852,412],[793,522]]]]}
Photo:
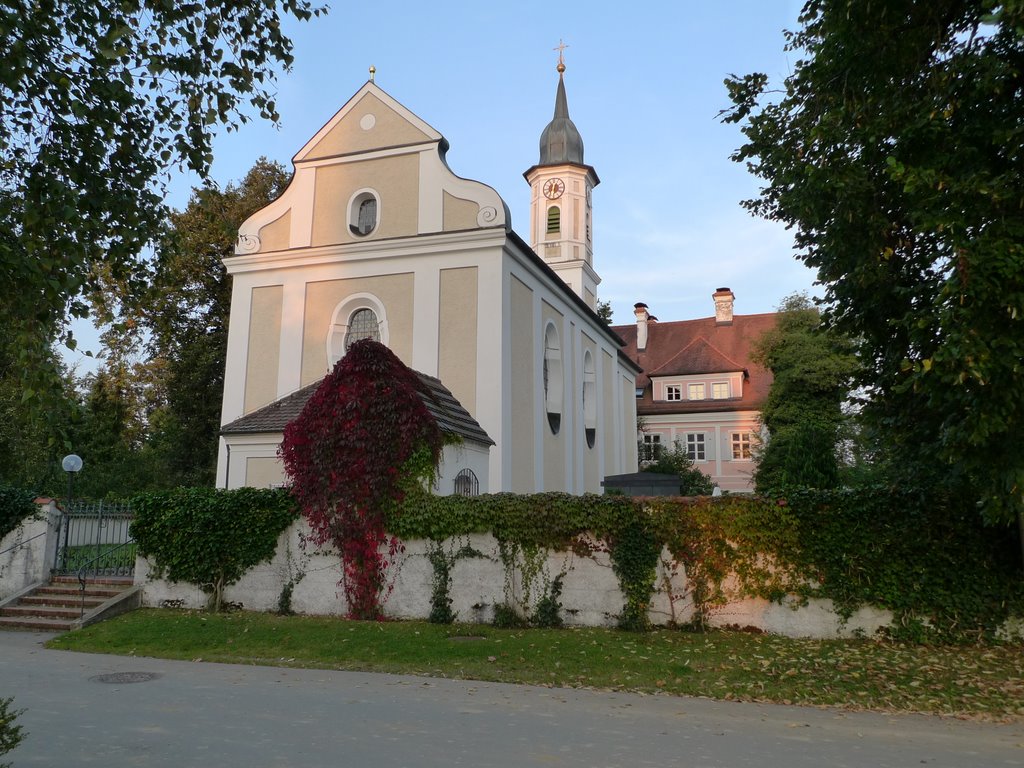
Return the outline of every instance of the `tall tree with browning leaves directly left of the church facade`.
{"type": "Polygon", "coordinates": [[[151,289],[134,314],[150,333],[153,397],[161,403],[151,445],[173,484],[213,484],[231,302],[223,259],[233,255],[242,222],[290,178],[283,165],[260,158],[237,185],[194,189],[158,246],[151,289]]]}

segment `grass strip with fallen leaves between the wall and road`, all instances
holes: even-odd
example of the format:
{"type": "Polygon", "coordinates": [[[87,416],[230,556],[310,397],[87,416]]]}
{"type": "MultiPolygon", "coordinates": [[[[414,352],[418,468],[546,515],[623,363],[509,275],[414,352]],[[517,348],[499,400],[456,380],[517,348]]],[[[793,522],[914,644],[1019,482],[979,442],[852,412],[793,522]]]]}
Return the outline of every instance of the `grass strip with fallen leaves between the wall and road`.
{"type": "Polygon", "coordinates": [[[741,632],[498,630],[141,609],[51,648],[751,701],[1024,718],[1024,646],[926,647],[741,632]]]}

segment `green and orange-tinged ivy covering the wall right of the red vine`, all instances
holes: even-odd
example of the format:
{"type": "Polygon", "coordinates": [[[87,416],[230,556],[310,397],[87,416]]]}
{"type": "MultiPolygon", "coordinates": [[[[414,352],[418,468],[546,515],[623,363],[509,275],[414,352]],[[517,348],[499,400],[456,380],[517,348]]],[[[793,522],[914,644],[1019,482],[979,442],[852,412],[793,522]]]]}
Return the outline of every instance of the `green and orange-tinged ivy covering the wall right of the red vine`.
{"type": "MultiPolygon", "coordinates": [[[[863,605],[888,608],[899,638],[961,641],[990,637],[1024,610],[1013,530],[986,527],[965,500],[921,489],[795,490],[779,500],[422,494],[388,523],[406,540],[492,532],[507,553],[604,549],[625,596],[618,624],[629,630],[649,626],[664,551],[686,570],[697,625],[731,600],[795,594],[831,599],[847,618],[863,605]]],[[[503,559],[507,579],[532,562],[503,559]]]]}

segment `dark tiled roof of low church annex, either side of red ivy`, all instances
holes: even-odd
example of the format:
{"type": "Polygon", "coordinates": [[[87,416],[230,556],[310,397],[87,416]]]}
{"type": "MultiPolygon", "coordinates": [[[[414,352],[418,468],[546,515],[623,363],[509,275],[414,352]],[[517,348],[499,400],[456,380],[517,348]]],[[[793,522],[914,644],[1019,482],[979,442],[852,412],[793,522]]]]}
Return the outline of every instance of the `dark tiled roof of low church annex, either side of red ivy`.
{"type": "MultiPolygon", "coordinates": [[[[423,385],[420,392],[423,404],[427,407],[427,411],[434,417],[442,432],[458,435],[464,440],[471,440],[483,445],[495,444],[490,436],[483,431],[483,427],[469,415],[469,412],[463,408],[440,379],[419,372],[416,372],[416,375],[423,385]]],[[[306,402],[312,397],[319,384],[321,382],[317,381],[304,386],[280,400],[274,400],[269,406],[246,414],[241,419],[236,419],[221,427],[220,433],[231,435],[284,432],[285,426],[302,413],[302,409],[305,408],[306,402]]]]}

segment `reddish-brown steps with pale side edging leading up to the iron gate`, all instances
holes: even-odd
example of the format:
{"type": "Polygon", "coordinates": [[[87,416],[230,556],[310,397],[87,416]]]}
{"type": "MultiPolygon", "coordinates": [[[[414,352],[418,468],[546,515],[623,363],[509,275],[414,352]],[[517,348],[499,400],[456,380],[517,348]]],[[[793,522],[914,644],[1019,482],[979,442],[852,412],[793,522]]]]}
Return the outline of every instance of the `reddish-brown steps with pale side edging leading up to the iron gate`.
{"type": "Polygon", "coordinates": [[[137,592],[131,577],[87,579],[83,598],[78,577],[53,577],[0,602],[0,630],[67,632],[136,607],[137,592]]]}

